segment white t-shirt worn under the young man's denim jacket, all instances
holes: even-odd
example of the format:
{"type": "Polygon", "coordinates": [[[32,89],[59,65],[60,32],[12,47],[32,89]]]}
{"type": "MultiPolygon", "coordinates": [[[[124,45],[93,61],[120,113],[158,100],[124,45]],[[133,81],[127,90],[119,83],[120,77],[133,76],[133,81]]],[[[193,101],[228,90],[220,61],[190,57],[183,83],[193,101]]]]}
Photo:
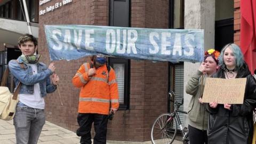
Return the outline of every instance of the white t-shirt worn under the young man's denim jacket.
{"type": "MultiPolygon", "coordinates": [[[[33,70],[33,75],[37,74],[36,64],[28,64],[33,70]]],[[[39,83],[34,84],[34,94],[19,94],[19,101],[31,108],[44,109],[44,98],[41,97],[39,83]]]]}

